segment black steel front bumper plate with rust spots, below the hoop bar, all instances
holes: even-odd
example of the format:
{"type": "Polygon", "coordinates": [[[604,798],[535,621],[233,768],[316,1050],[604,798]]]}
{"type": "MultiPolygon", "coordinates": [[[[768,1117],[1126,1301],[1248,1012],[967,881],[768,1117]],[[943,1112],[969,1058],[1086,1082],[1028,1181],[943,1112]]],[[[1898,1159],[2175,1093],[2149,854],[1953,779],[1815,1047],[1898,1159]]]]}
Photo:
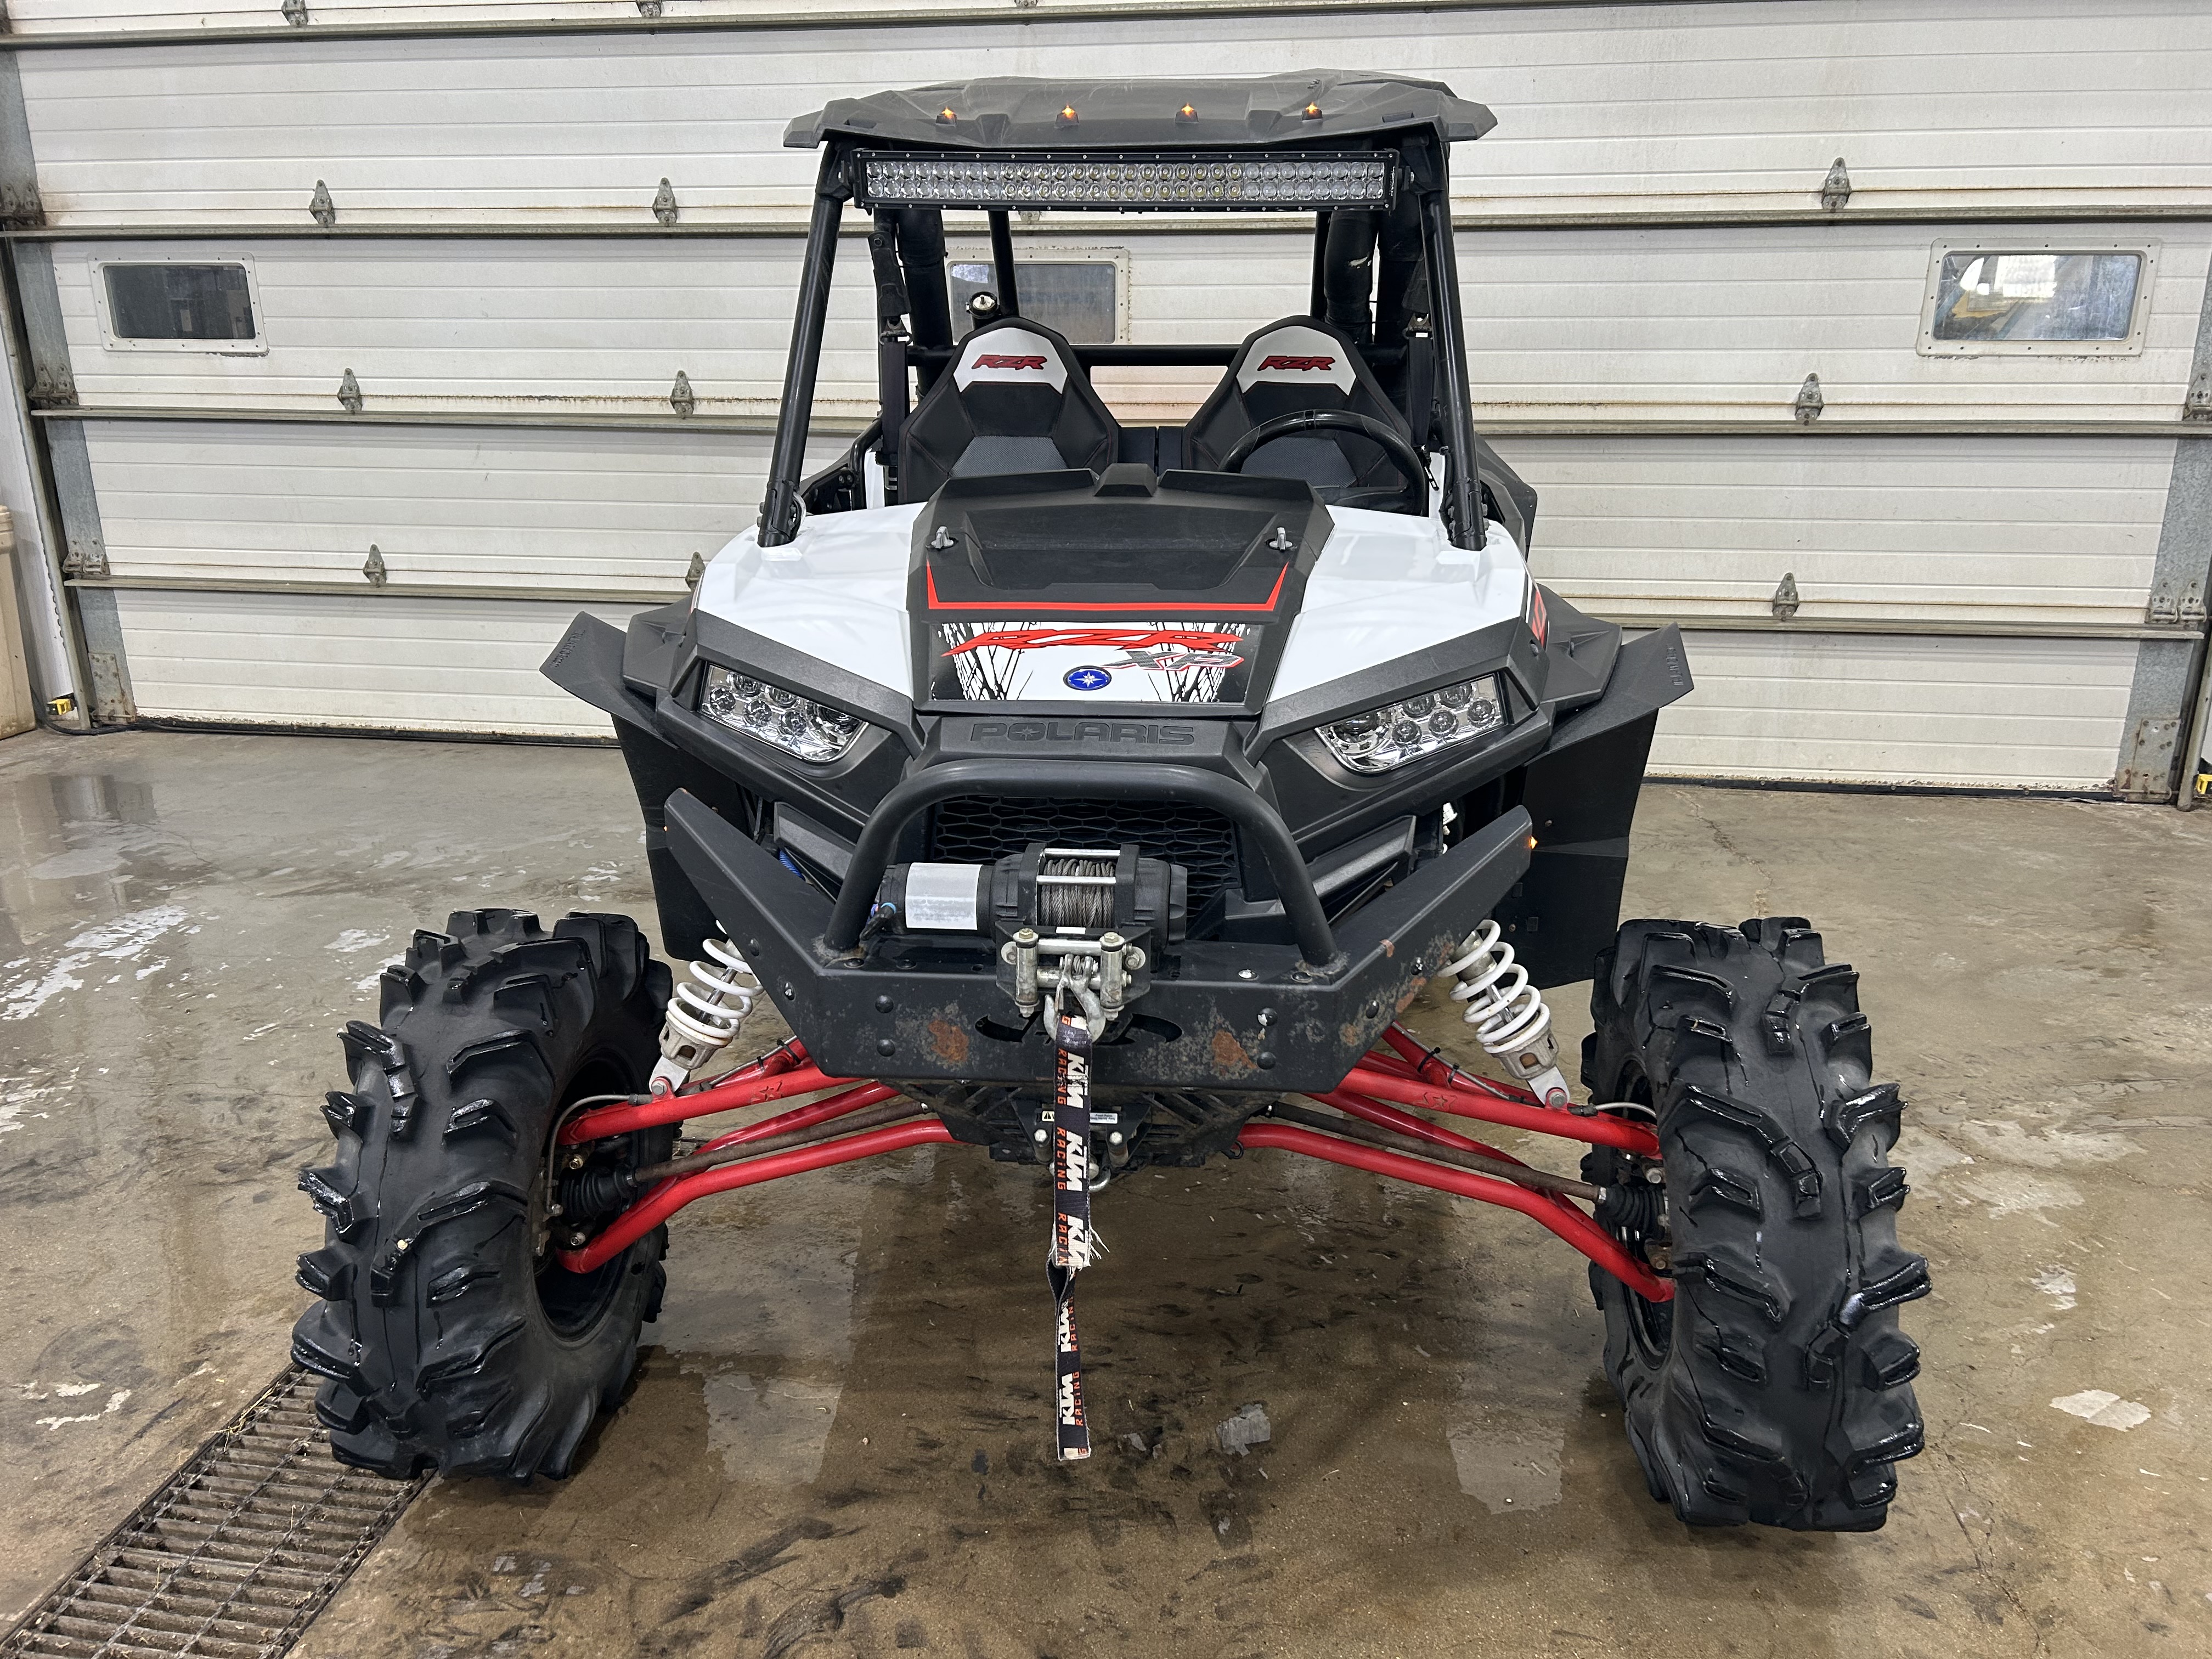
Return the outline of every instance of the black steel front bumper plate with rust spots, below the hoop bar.
{"type": "MultiPolygon", "coordinates": [[[[1515,807],[1422,865],[1336,927],[1327,962],[1296,945],[1168,947],[1126,1037],[1093,1053],[1095,1084],[1336,1088],[1522,878],[1528,827],[1515,807]]],[[[916,1084],[1053,1075],[1051,1042],[1037,1026],[1015,1033],[989,967],[896,967],[834,949],[832,900],[688,792],[668,799],[668,847],[823,1071],[916,1084]]]]}

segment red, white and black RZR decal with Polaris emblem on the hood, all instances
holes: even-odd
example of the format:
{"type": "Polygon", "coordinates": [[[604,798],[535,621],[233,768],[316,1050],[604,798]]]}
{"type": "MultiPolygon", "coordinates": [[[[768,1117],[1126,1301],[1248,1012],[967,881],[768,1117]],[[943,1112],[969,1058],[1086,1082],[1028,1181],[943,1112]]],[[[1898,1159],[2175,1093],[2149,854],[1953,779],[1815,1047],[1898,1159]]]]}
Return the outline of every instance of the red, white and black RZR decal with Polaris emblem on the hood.
{"type": "Polygon", "coordinates": [[[1234,703],[1259,628],[1150,622],[1124,628],[1048,622],[940,622],[929,695],[1004,703],[1110,690],[1135,703],[1234,703]],[[1115,655],[1106,655],[1115,653],[1115,655]]]}

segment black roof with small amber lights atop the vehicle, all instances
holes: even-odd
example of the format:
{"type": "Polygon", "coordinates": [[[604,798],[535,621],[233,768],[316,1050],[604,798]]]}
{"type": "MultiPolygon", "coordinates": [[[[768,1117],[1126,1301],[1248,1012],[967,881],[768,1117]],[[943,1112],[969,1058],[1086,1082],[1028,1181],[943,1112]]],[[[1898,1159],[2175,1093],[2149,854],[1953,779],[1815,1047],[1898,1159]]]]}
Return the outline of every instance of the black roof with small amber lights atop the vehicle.
{"type": "Polygon", "coordinates": [[[962,150],[1245,148],[1433,128],[1447,144],[1498,126],[1436,80],[1310,69],[1237,80],[1031,80],[995,75],[902,93],[838,97],[783,128],[810,150],[832,133],[962,150]],[[1192,117],[1183,117],[1190,106],[1192,117]],[[1318,106],[1318,117],[1305,111],[1318,106]],[[1062,111],[1075,119],[1064,122],[1062,111]],[[953,119],[942,119],[951,111],[953,119]]]}

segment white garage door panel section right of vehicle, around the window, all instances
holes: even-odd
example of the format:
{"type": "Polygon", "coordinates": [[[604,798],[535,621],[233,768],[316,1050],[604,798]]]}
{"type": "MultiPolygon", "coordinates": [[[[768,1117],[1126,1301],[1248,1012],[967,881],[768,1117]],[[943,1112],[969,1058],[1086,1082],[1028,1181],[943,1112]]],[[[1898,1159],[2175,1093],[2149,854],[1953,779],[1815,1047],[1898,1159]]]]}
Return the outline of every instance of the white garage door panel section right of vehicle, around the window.
{"type": "Polygon", "coordinates": [[[2212,263],[2201,226],[2017,223],[1464,232],[1475,403],[1493,420],[2177,418],[2212,263]],[[1938,241],[2152,250],[2141,356],[1920,356],[1938,241]]]}

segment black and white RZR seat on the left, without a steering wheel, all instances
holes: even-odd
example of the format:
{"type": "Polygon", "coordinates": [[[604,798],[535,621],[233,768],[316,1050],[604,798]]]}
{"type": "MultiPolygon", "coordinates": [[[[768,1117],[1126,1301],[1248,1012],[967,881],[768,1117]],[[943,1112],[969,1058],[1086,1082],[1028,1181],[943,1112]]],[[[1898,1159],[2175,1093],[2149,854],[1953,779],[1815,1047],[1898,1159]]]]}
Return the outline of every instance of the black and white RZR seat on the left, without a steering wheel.
{"type": "Polygon", "coordinates": [[[918,502],[947,478],[1099,471],[1121,427],[1091,389],[1064,338],[1026,316],[969,334],[953,363],[907,418],[898,445],[898,493],[918,502]]]}

